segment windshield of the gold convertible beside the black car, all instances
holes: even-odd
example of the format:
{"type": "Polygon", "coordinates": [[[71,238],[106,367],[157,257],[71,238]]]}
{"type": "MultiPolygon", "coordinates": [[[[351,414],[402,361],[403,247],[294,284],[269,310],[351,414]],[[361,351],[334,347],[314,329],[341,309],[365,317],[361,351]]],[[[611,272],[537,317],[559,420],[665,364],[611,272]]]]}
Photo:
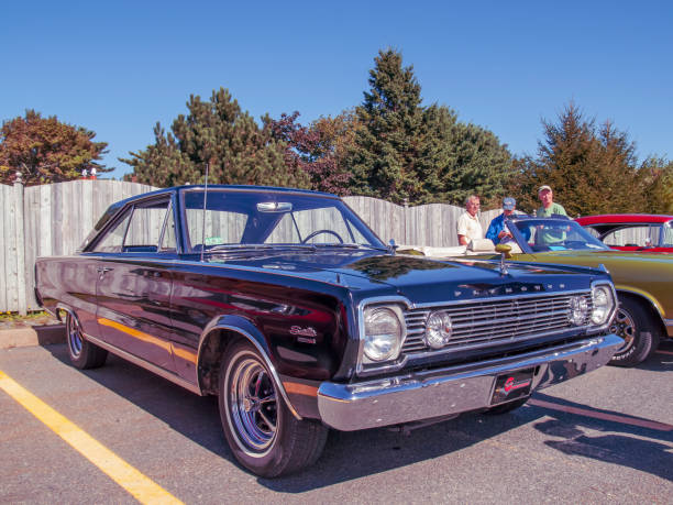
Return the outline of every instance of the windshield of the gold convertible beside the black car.
{"type": "Polygon", "coordinates": [[[561,219],[526,219],[514,224],[517,242],[523,251],[586,251],[608,250],[575,221],[561,219]]]}

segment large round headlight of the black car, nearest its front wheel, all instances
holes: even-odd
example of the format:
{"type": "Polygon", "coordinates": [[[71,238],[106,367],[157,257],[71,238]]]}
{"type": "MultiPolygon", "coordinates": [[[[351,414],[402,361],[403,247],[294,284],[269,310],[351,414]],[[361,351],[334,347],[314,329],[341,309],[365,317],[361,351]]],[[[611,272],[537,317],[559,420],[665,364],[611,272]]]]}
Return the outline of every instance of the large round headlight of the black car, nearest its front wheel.
{"type": "Polygon", "coordinates": [[[366,309],[364,315],[364,353],[371,361],[397,358],[402,326],[395,310],[388,307],[366,309]]]}

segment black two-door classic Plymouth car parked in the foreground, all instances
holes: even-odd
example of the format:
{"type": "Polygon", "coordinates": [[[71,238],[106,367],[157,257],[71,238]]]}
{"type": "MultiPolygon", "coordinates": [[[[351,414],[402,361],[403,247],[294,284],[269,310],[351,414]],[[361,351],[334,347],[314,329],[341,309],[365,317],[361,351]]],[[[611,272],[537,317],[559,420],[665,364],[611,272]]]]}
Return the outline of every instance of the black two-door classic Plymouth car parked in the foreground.
{"type": "Polygon", "coordinates": [[[234,457],[265,476],[315,462],[330,427],[504,413],[622,344],[606,334],[616,298],[598,268],[396,255],[315,191],[129,198],[35,275],[75,366],[112,352],[217,395],[234,457]]]}

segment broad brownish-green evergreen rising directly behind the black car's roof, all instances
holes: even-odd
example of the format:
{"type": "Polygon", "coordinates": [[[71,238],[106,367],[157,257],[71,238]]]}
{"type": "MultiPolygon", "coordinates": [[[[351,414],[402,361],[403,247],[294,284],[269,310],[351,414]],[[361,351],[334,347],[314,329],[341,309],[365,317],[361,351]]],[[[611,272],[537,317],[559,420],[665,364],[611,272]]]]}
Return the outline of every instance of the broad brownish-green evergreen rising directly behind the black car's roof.
{"type": "Polygon", "coordinates": [[[120,158],[133,167],[128,179],[159,187],[202,184],[208,163],[210,184],[308,186],[302,171],[285,165],[285,145],[243,112],[228,90],[213,91],[206,102],[190,96],[187,108],[187,116],[174,120],[172,133],[157,123],[154,145],[120,158]]]}

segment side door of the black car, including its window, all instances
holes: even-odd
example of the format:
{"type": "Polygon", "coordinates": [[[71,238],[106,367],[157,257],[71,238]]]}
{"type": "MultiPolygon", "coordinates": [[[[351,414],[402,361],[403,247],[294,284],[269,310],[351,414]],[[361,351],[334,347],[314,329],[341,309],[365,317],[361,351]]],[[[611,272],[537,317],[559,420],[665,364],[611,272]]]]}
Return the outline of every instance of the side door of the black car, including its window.
{"type": "Polygon", "coordinates": [[[176,257],[170,198],[130,206],[93,251],[99,253],[97,321],[101,339],[173,370],[172,265],[176,257]]]}

